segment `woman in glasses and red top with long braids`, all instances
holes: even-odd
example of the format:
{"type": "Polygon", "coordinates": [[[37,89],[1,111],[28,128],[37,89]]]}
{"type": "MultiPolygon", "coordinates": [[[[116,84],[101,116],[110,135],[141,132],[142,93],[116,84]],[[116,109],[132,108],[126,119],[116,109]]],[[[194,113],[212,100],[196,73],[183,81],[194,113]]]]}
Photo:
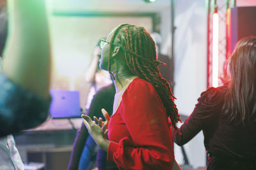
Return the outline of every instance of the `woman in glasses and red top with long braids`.
{"type": "Polygon", "coordinates": [[[180,118],[170,86],[159,73],[163,63],[156,58],[153,39],[144,27],[122,24],[100,46],[100,67],[109,71],[116,87],[113,115],[103,113],[106,122],[82,117],[99,147],[108,152],[113,162],[109,169],[172,169],[168,118],[174,129],[180,118]]]}

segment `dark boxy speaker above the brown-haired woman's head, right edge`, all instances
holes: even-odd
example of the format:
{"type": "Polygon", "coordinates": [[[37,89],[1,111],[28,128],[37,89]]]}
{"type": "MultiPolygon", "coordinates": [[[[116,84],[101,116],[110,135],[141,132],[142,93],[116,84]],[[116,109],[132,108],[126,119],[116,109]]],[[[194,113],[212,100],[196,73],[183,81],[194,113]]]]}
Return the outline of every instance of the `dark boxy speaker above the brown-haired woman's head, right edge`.
{"type": "Polygon", "coordinates": [[[256,36],[256,6],[231,9],[231,49],[246,36],[256,36]]]}

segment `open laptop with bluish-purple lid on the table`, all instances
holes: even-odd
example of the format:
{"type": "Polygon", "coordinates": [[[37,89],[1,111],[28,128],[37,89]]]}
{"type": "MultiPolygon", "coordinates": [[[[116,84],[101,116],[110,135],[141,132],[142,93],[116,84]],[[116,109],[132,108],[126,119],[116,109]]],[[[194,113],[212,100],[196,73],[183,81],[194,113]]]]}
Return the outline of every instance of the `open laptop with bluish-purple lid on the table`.
{"type": "Polygon", "coordinates": [[[52,103],[50,115],[52,118],[81,118],[81,108],[78,91],[51,89],[52,103]]]}

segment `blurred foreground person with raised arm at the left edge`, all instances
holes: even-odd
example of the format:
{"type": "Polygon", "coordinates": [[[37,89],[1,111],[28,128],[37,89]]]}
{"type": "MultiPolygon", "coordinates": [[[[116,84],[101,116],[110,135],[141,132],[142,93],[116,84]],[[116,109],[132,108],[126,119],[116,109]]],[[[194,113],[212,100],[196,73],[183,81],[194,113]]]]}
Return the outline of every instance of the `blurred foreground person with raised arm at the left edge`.
{"type": "Polygon", "coordinates": [[[0,73],[0,169],[24,169],[10,134],[44,122],[51,103],[45,1],[8,0],[7,7],[6,1],[0,1],[0,6],[1,53],[5,45],[0,73]]]}

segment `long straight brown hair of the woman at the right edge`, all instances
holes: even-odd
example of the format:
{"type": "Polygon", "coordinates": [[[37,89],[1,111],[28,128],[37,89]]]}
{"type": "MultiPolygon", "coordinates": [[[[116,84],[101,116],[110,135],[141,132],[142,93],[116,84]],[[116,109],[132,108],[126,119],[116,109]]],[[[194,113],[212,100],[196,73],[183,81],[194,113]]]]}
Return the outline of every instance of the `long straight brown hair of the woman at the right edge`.
{"type": "Polygon", "coordinates": [[[256,121],[256,37],[241,39],[230,56],[231,81],[223,110],[229,122],[256,121]]]}

